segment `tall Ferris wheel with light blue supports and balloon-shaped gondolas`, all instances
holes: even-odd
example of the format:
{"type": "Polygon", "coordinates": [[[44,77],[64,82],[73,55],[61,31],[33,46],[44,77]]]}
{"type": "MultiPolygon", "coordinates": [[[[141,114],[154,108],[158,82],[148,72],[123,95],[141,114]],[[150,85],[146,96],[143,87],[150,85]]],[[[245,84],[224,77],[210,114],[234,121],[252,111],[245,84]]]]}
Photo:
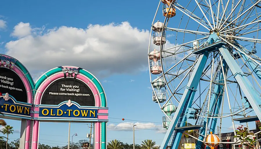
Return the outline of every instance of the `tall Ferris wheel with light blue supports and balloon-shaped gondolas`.
{"type": "Polygon", "coordinates": [[[190,130],[200,149],[212,133],[261,120],[260,19],[261,0],[159,1],[148,62],[167,129],[160,149],[190,130]]]}

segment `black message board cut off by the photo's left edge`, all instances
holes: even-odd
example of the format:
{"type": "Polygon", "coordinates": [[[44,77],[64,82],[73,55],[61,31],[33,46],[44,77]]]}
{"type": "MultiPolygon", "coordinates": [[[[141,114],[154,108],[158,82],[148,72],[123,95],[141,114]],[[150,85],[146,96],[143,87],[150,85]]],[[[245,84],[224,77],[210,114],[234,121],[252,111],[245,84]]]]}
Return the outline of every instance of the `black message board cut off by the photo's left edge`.
{"type": "Polygon", "coordinates": [[[0,67],[0,92],[12,95],[18,102],[27,102],[27,91],[21,78],[5,67],[0,67]]]}

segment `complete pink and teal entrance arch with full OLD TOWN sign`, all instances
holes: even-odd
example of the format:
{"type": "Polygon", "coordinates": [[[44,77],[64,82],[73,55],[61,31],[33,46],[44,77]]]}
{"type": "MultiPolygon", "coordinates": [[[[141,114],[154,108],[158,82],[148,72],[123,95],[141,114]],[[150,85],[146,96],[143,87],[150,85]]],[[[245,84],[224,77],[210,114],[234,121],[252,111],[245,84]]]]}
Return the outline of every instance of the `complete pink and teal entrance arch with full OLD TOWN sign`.
{"type": "Polygon", "coordinates": [[[32,149],[38,148],[39,122],[93,122],[94,148],[106,149],[108,107],[100,82],[88,71],[56,67],[35,83],[32,149]]]}

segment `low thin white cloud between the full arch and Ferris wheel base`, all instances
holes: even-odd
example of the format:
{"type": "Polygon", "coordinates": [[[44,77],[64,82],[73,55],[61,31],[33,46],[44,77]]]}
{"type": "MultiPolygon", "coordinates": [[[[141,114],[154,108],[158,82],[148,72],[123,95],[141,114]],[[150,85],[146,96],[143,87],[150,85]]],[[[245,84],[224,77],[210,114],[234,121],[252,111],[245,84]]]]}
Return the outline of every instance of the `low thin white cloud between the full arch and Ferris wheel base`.
{"type": "Polygon", "coordinates": [[[166,129],[164,129],[162,126],[155,125],[154,123],[119,123],[117,125],[115,124],[109,124],[107,127],[109,130],[115,130],[115,131],[133,131],[133,125],[135,126],[136,130],[156,130],[157,133],[166,133],[166,129]]]}

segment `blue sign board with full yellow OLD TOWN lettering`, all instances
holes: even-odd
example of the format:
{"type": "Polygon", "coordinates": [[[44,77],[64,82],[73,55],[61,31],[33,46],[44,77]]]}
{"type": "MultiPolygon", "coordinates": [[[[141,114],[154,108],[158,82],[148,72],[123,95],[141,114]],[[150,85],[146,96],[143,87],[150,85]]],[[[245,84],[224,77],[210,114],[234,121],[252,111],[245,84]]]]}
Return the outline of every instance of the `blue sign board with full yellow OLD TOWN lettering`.
{"type": "Polygon", "coordinates": [[[59,105],[39,105],[38,119],[81,119],[81,120],[97,120],[98,107],[80,106],[77,102],[64,101],[59,105]]]}

